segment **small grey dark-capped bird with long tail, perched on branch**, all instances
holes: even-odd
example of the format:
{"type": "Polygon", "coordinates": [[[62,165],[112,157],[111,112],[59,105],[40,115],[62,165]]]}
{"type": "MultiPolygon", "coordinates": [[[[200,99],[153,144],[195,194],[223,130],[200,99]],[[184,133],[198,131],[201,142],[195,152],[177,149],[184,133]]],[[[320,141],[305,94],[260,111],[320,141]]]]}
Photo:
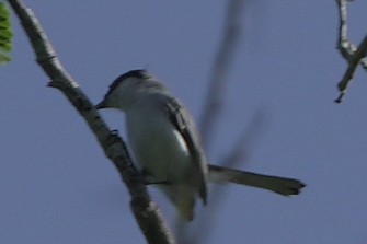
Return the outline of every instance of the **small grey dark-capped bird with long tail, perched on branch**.
{"type": "Polygon", "coordinates": [[[131,70],[112,83],[95,106],[108,107],[125,112],[129,149],[138,169],[150,183],[158,183],[184,220],[193,219],[197,196],[206,204],[208,179],[285,196],[297,195],[305,186],[298,179],[209,165],[191,114],[145,70],[131,70]]]}

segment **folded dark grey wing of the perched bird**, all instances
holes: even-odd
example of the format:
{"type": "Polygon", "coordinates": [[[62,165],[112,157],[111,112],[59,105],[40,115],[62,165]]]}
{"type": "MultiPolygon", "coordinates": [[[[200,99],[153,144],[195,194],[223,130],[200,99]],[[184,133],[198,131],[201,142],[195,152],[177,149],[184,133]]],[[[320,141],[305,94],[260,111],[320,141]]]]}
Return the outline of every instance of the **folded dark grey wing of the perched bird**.
{"type": "Polygon", "coordinates": [[[203,152],[198,132],[191,114],[185,107],[174,97],[165,97],[165,109],[172,124],[184,138],[190,154],[194,162],[195,177],[198,179],[198,193],[203,202],[207,199],[207,163],[203,152]]]}

